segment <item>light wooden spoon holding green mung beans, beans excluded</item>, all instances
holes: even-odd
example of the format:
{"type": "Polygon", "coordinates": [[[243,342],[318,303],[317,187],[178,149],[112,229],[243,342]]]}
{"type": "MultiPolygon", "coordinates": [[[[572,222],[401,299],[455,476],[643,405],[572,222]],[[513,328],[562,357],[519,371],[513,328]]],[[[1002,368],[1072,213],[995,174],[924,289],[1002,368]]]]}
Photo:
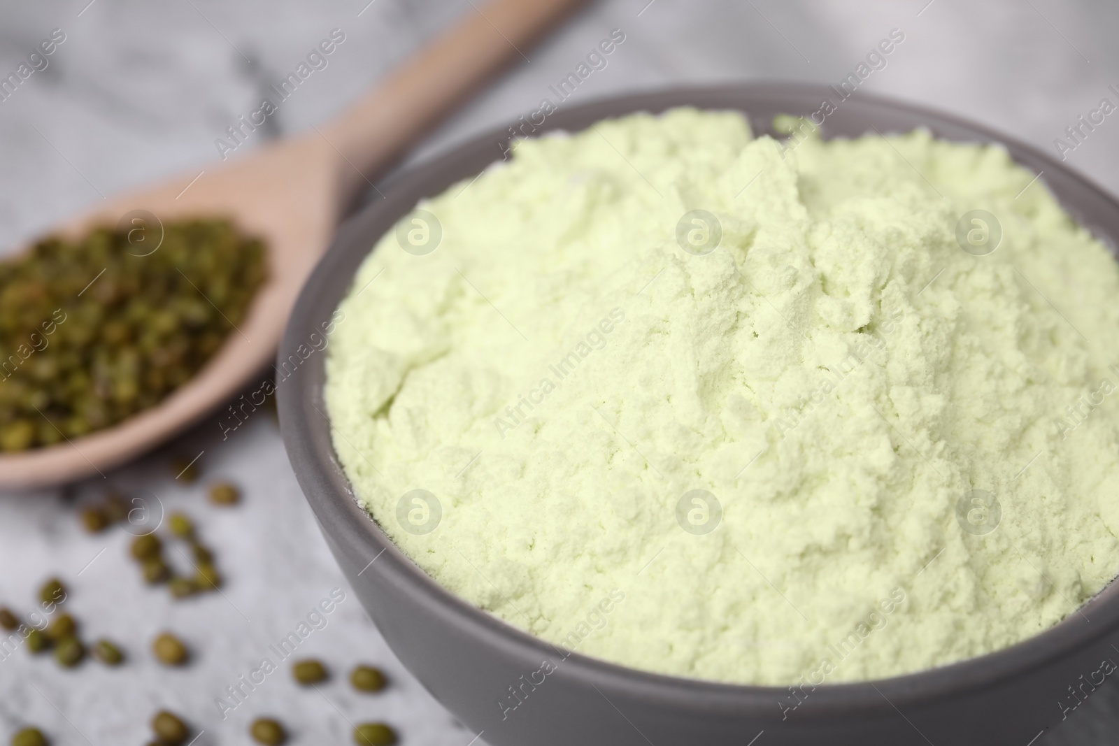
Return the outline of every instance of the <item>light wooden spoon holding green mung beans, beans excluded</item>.
{"type": "MultiPolygon", "coordinates": [[[[159,445],[242,390],[271,361],[304,278],[373,174],[398,158],[506,63],[582,0],[491,0],[312,132],[110,199],[53,233],[79,235],[148,210],[160,221],[227,216],[269,246],[269,281],[243,323],[188,384],[159,406],[57,445],[0,455],[0,488],[101,474],[159,445]]],[[[473,3],[471,2],[473,6],[473,3]]],[[[497,151],[495,151],[495,154],[497,151]]],[[[157,232],[152,228],[152,235],[157,232]]],[[[217,425],[215,424],[215,431],[217,425]]]]}

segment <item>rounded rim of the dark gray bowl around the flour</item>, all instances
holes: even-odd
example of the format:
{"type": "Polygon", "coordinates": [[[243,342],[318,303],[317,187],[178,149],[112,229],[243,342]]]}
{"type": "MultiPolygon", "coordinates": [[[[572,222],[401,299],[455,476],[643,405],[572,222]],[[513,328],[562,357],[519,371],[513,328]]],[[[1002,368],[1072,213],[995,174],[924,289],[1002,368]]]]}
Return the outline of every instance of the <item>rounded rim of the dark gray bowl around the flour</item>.
{"type": "MultiPolygon", "coordinates": [[[[765,131],[755,125],[749,111],[751,100],[788,97],[791,104],[798,102],[803,104],[806,101],[819,100],[829,94],[835,95],[835,91],[829,86],[803,83],[756,82],[678,86],[603,96],[579,106],[561,107],[537,129],[540,133],[549,130],[572,130],[575,128],[568,123],[580,122],[589,116],[594,117],[591,121],[598,121],[626,113],[642,111],[658,113],[674,106],[695,105],[713,111],[743,111],[750,119],[751,125],[755,128],[754,134],[760,135],[765,131]],[[728,103],[724,106],[706,106],[702,103],[692,103],[694,101],[734,101],[737,105],[728,103]],[[598,113],[603,111],[612,113],[598,116],[598,113]]],[[[923,126],[930,129],[934,135],[948,140],[998,143],[1010,153],[1015,162],[1032,168],[1040,177],[1042,173],[1049,177],[1038,178],[1038,181],[1051,185],[1059,181],[1068,188],[1087,190],[1101,204],[1099,209],[1108,208],[1119,216],[1119,201],[1092,180],[1072,171],[1034,147],[986,125],[923,105],[863,91],[857,93],[853,103],[845,105],[864,110],[867,115],[883,110],[908,114],[921,120],[923,126]],[[952,134],[957,136],[951,136],[952,134]],[[960,134],[967,136],[958,136],[960,134]]],[[[798,108],[802,111],[803,106],[798,108]]],[[[788,113],[798,112],[790,110],[788,113]]],[[[495,128],[460,141],[387,179],[382,187],[386,197],[372,201],[339,228],[335,243],[308,280],[289,320],[278,361],[283,361],[295,350],[300,340],[313,331],[314,321],[319,317],[312,313],[312,306],[337,308],[338,302],[349,292],[352,270],[349,271],[339,292],[326,293],[330,296],[330,303],[326,303],[328,299],[322,298],[323,286],[337,285],[338,273],[340,271],[345,273],[350,265],[359,265],[384,233],[382,230],[370,237],[368,223],[374,221],[376,217],[380,217],[384,221],[384,216],[393,213],[388,221],[388,225],[392,225],[415,206],[416,199],[410,195],[434,196],[462,178],[451,178],[445,181],[444,187],[435,191],[420,189],[422,182],[431,180],[432,173],[452,171],[455,164],[469,161],[471,157],[477,160],[477,153],[483,149],[492,151],[491,162],[499,160],[499,149],[501,143],[510,140],[510,130],[508,125],[495,128]],[[358,251],[355,248],[357,244],[364,244],[366,248],[359,252],[359,257],[354,261],[352,255],[358,251]]],[[[826,120],[824,130],[827,135],[826,120]]],[[[1051,191],[1056,195],[1052,188],[1051,191]]],[[[1060,198],[1059,201],[1062,208],[1073,215],[1081,225],[1092,228],[1091,220],[1081,219],[1078,206],[1070,206],[1060,198]]],[[[1113,233],[1099,235],[1098,230],[1093,230],[1093,235],[1103,240],[1115,254],[1119,236],[1113,233]]],[[[358,504],[356,492],[346,479],[333,452],[329,417],[325,408],[317,406],[318,403],[325,407],[321,390],[321,380],[325,377],[323,358],[325,356],[314,356],[310,361],[311,375],[299,377],[291,386],[276,387],[284,444],[300,485],[314,509],[323,531],[339,545],[361,550],[363,556],[368,556],[372,560],[366,569],[373,572],[380,580],[395,586],[401,593],[407,594],[427,613],[445,621],[466,638],[502,650],[518,660],[539,661],[542,657],[555,655],[558,651],[555,645],[506,623],[443,588],[414,564],[358,504]]],[[[1096,596],[1080,606],[1079,612],[1071,613],[1036,635],[976,658],[885,679],[835,683],[825,681],[810,688],[812,707],[807,708],[803,716],[798,714],[797,718],[818,721],[837,715],[849,715],[853,708],[863,714],[871,709],[888,712],[915,703],[956,699],[1044,668],[1076,650],[1099,643],[1101,639],[1119,629],[1119,584],[1109,582],[1096,596]],[[1083,620],[1091,617],[1092,621],[1088,623],[1081,617],[1083,620]]],[[[770,710],[768,715],[773,716],[778,711],[773,707],[774,702],[787,698],[791,691],[789,686],[733,683],[657,673],[580,652],[562,655],[556,671],[551,676],[593,686],[603,691],[626,692],[653,702],[677,708],[686,707],[706,714],[759,715],[767,708],[770,710]]]]}

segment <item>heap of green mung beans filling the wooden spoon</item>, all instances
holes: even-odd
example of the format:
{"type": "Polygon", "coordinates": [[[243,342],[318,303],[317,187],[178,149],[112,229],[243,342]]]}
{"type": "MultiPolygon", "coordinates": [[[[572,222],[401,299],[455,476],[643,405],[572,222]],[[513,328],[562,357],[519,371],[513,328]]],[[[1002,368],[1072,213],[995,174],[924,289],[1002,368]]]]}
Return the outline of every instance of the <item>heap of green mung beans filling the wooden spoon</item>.
{"type": "Polygon", "coordinates": [[[265,275],[264,244],[225,219],[96,228],[0,263],[0,451],[156,406],[217,352],[265,275]]]}

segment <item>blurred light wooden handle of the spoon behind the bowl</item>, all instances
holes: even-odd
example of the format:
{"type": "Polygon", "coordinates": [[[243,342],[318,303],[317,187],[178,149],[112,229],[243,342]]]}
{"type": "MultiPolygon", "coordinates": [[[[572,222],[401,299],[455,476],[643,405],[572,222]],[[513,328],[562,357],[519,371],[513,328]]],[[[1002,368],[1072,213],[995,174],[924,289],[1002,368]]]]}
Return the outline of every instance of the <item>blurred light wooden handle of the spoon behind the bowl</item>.
{"type": "Polygon", "coordinates": [[[344,160],[348,201],[404,149],[585,0],[490,0],[472,6],[322,130],[344,160]]]}

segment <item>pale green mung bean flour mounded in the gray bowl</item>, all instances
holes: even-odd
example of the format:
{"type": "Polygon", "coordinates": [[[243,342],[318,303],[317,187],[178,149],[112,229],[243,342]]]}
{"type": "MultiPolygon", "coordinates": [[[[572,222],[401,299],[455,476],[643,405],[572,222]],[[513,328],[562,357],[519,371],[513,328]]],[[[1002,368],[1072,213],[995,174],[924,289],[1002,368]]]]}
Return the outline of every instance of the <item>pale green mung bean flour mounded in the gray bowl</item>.
{"type": "Polygon", "coordinates": [[[692,108],[523,141],[357,273],[335,448],[549,665],[817,684],[1005,648],[1119,569],[1119,271],[1034,176],[692,108]]]}

